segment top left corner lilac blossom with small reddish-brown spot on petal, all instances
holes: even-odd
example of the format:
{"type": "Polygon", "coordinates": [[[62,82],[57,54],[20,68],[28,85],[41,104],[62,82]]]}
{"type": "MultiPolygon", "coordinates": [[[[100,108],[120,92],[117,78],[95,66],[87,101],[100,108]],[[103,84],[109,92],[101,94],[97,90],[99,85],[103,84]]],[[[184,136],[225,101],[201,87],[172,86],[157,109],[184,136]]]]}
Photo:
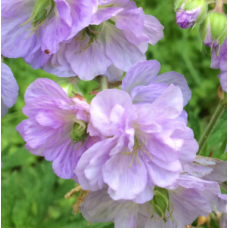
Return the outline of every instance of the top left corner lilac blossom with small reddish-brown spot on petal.
{"type": "Polygon", "coordinates": [[[93,0],[2,0],[1,7],[2,55],[23,57],[28,63],[35,58],[42,65],[61,42],[89,25],[96,4],[93,0]]]}

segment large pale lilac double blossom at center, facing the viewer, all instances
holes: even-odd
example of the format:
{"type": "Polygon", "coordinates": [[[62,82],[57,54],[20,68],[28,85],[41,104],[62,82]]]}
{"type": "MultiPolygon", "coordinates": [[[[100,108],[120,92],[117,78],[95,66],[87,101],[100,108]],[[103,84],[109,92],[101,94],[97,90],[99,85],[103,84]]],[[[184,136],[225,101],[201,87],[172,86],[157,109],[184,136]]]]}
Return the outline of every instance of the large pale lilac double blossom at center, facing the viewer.
{"type": "Polygon", "coordinates": [[[140,86],[150,74],[147,83],[155,80],[157,69],[151,69],[156,63],[136,64],[126,75],[129,84],[123,81],[123,89],[131,94],[137,89],[140,103],[134,104],[135,97],[132,101],[126,91],[117,89],[104,90],[92,100],[92,124],[106,139],[80,158],[75,173],[83,189],[96,191],[107,184],[114,200],[144,203],[153,198],[154,186],[172,184],[182,164],[194,160],[198,144],[186,126],[181,89],[165,84],[165,75],[157,77],[163,83],[140,86]]]}

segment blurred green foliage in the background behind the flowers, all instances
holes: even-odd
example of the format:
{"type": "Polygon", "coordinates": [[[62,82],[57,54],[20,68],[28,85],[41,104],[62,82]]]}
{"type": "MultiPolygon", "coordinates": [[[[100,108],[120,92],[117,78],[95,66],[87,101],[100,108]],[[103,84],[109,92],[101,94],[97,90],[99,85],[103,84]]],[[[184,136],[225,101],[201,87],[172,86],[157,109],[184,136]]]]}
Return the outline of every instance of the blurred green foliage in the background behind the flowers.
{"type": "MultiPolygon", "coordinates": [[[[158,18],[165,27],[164,38],[155,46],[149,46],[147,58],[161,63],[160,73],[176,71],[185,75],[192,90],[192,99],[185,109],[189,115],[189,126],[199,140],[219,102],[219,70],[210,69],[210,50],[202,45],[197,27],[189,31],[177,26],[172,0],[136,2],[146,14],[158,18]]],[[[25,119],[22,107],[28,85],[39,77],[53,80],[57,77],[32,69],[23,59],[4,59],[4,62],[12,69],[20,91],[17,103],[2,118],[2,228],[114,227],[112,223],[89,224],[81,214],[73,214],[72,205],[76,198],[66,200],[64,195],[75,187],[74,181],[56,177],[51,163],[26,151],[24,141],[15,131],[15,127],[25,119]]],[[[94,83],[81,83],[81,87],[85,94],[89,94],[94,83]]],[[[224,113],[204,155],[226,160],[226,126],[224,113]]]]}

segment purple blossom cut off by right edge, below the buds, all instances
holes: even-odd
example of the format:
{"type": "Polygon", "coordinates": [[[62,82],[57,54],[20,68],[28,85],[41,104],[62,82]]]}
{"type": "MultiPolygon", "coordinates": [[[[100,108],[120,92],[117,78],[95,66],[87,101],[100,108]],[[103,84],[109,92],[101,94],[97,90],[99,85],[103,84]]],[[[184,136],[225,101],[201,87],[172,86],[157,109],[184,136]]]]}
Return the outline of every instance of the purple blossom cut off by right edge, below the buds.
{"type": "Polygon", "coordinates": [[[220,69],[221,73],[218,75],[222,89],[227,92],[227,39],[224,41],[219,54],[215,48],[211,55],[211,68],[220,69]]]}

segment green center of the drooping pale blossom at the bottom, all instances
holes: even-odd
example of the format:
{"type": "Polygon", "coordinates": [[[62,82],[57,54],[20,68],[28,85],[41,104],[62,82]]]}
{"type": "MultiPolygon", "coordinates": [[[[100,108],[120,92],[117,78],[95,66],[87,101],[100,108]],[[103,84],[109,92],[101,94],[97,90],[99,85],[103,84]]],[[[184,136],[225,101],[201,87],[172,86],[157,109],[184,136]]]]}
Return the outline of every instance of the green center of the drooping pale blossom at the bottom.
{"type": "Polygon", "coordinates": [[[168,218],[171,218],[172,222],[176,223],[172,216],[174,207],[173,204],[169,201],[169,192],[167,189],[155,186],[154,197],[150,201],[150,204],[152,206],[151,218],[153,217],[154,213],[156,213],[160,217],[160,219],[164,220],[165,223],[168,218]],[[171,206],[172,210],[170,209],[171,206]],[[167,211],[169,213],[168,217],[166,217],[167,211]]]}

